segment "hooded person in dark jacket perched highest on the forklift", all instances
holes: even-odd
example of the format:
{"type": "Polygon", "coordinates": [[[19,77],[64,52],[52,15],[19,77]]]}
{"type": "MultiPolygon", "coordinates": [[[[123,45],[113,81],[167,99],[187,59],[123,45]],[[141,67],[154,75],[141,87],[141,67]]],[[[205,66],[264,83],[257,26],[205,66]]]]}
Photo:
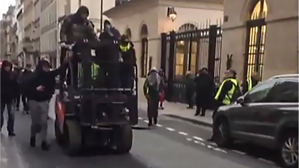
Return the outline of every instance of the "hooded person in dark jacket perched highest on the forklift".
{"type": "MultiPolygon", "coordinates": [[[[66,49],[64,48],[65,44],[73,44],[78,43],[80,44],[86,41],[93,41],[97,39],[97,35],[94,32],[93,28],[94,25],[91,21],[88,20],[89,16],[89,9],[86,6],[80,6],[76,13],[68,15],[61,26],[60,30],[60,40],[61,40],[61,57],[60,62],[63,62],[66,58],[66,49]]],[[[77,48],[78,50],[81,49],[77,48]]],[[[76,53],[76,52],[74,52],[76,53]]],[[[79,58],[74,55],[73,59],[71,60],[73,64],[73,73],[78,74],[78,61],[79,58]]],[[[63,79],[66,76],[66,69],[61,71],[61,81],[60,87],[62,87],[63,79]]],[[[67,84],[70,85],[70,73],[67,74],[67,84]]],[[[74,86],[78,84],[78,76],[74,75],[74,86]]]]}

